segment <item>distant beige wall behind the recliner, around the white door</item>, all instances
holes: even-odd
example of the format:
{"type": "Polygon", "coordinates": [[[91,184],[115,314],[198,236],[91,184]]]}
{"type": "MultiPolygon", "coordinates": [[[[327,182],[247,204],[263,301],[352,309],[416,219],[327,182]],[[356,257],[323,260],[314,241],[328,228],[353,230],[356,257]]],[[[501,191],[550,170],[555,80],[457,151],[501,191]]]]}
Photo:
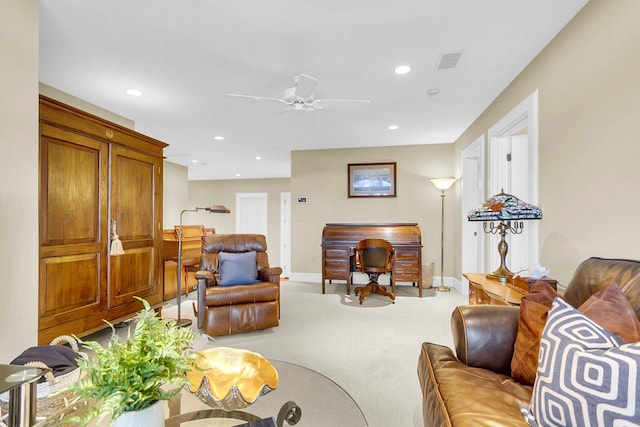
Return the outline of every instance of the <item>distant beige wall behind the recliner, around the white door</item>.
{"type": "Polygon", "coordinates": [[[269,263],[280,265],[280,193],[289,192],[289,185],[289,178],[189,181],[189,205],[185,208],[224,205],[231,214],[189,212],[183,223],[214,227],[216,233],[235,233],[236,193],[267,193],[269,263]]]}

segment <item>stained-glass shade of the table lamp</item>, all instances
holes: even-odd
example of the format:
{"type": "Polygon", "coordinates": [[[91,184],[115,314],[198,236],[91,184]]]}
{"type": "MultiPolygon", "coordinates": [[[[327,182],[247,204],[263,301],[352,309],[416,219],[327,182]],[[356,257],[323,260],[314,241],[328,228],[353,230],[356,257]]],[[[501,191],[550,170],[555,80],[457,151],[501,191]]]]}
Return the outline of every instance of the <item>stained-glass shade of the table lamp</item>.
{"type": "Polygon", "coordinates": [[[467,219],[469,221],[542,219],[542,211],[539,207],[502,191],[471,210],[467,219]]]}

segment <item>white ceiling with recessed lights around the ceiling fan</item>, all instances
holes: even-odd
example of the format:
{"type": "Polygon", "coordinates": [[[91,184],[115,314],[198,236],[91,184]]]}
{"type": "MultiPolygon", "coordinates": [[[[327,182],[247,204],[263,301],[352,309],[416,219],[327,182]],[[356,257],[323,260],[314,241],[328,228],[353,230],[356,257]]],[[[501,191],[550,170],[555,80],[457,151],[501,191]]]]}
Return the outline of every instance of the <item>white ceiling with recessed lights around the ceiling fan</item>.
{"type": "Polygon", "coordinates": [[[189,179],[288,177],[292,150],[455,141],[586,2],[40,0],[40,81],[170,144],[189,179]],[[280,98],[297,74],[316,98],[371,103],[226,96],[280,98]]]}

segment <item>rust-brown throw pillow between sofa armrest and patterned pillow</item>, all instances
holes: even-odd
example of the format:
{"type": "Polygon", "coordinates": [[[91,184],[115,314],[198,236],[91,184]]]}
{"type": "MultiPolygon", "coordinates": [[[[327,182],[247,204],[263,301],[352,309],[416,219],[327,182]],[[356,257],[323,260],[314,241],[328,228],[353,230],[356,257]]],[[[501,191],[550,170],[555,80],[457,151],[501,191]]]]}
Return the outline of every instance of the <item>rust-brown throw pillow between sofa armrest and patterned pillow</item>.
{"type": "Polygon", "coordinates": [[[547,282],[538,280],[531,285],[529,294],[520,300],[511,376],[522,384],[533,385],[536,379],[540,338],[556,296],[556,291],[547,282]]]}

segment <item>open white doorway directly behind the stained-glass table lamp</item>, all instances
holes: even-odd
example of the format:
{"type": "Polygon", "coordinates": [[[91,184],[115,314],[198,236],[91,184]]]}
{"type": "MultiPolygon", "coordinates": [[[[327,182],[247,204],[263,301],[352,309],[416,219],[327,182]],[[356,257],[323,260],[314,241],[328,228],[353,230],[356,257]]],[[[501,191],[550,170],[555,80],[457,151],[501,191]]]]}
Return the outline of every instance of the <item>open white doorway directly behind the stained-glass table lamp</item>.
{"type": "MultiPolygon", "coordinates": [[[[489,129],[489,195],[504,190],[538,204],[538,91],[536,90],[489,129]]],[[[488,197],[488,196],[487,196],[488,197]]],[[[506,262],[517,273],[538,261],[538,223],[526,221],[522,234],[505,237],[506,262]]],[[[499,236],[489,235],[487,271],[500,265],[499,236]]]]}

